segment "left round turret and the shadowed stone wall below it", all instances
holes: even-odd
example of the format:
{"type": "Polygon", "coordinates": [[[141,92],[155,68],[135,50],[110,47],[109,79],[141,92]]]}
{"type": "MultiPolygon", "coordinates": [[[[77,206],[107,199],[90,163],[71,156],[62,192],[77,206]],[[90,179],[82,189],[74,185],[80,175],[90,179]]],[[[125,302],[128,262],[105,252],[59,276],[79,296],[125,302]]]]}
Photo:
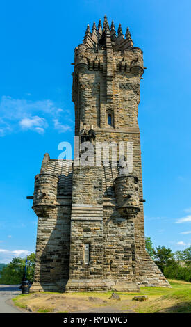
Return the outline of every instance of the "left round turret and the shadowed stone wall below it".
{"type": "Polygon", "coordinates": [[[38,216],[35,276],[31,292],[62,290],[69,278],[71,206],[57,202],[58,176],[35,177],[33,209],[38,216]]]}

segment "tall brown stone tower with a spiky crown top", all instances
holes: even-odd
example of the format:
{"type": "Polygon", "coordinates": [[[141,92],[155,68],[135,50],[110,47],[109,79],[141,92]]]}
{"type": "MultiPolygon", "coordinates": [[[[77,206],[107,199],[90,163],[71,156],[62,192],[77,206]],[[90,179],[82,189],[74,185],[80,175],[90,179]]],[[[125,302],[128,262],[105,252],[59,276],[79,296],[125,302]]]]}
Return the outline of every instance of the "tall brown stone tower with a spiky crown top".
{"type": "MultiPolygon", "coordinates": [[[[75,165],[44,155],[35,176],[33,209],[38,216],[32,290],[138,292],[140,285],[169,283],[144,244],[138,104],[144,72],[142,50],[119,24],[88,25],[75,49],[75,136],[83,143],[131,145],[131,172],[116,164],[75,165]]],[[[102,152],[101,152],[102,153],[102,152]]],[[[128,157],[128,147],[124,153],[128,157]]],[[[124,162],[124,161],[123,161],[124,162]]]]}

